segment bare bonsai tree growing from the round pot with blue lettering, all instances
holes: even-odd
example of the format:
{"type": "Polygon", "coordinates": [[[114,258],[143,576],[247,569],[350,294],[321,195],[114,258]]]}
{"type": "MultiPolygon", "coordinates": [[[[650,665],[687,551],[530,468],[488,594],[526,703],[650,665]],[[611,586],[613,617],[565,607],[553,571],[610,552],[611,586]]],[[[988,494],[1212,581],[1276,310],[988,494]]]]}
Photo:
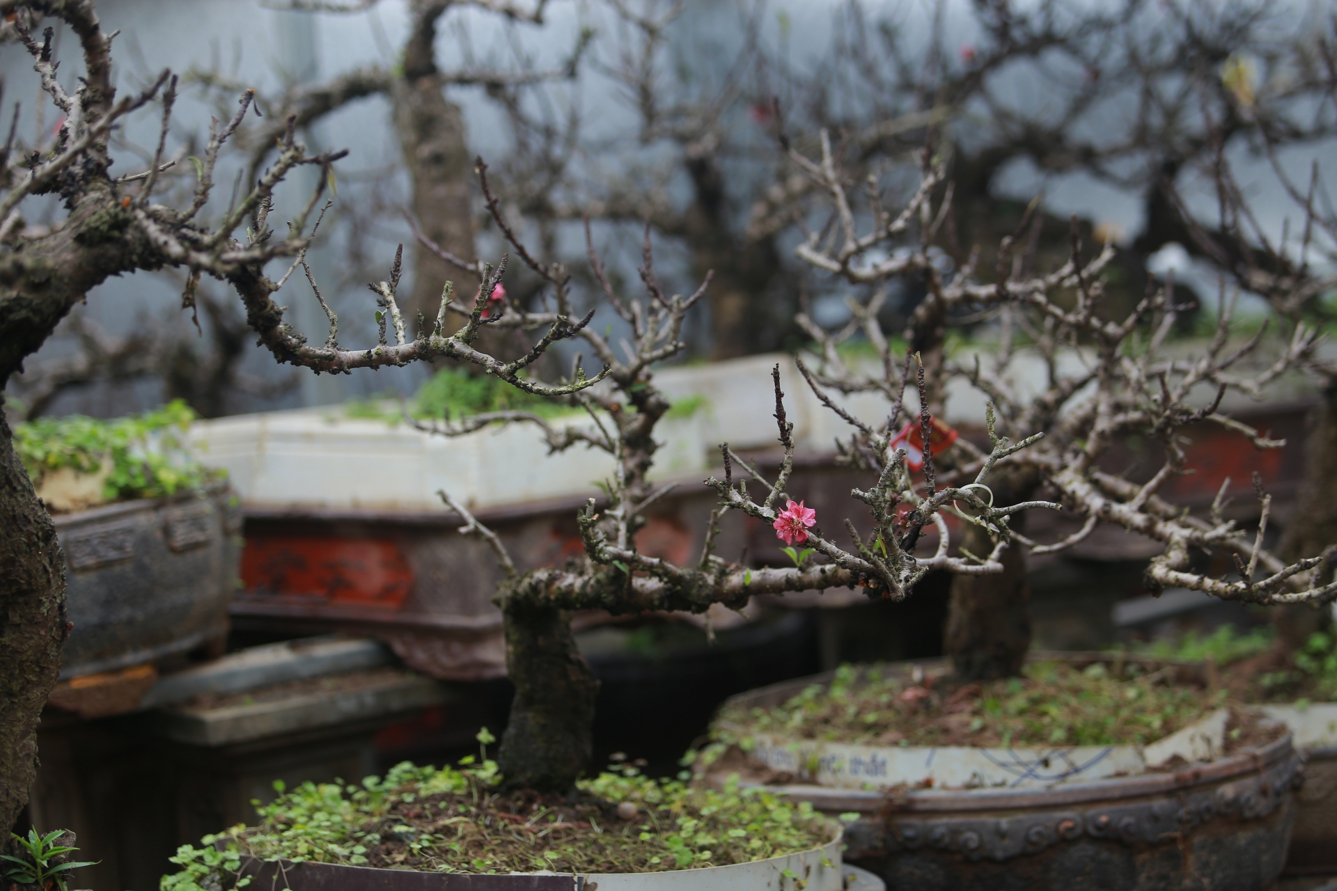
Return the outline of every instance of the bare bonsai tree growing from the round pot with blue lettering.
{"type": "MultiPolygon", "coordinates": [[[[885,490],[893,497],[870,502],[878,513],[877,556],[889,566],[904,564],[927,517],[937,516],[935,506],[961,521],[963,554],[988,554],[976,561],[987,573],[961,573],[952,585],[947,649],[957,675],[979,680],[1020,669],[1029,645],[1025,554],[1072,548],[1102,522],[1163,545],[1146,572],[1152,590],[1187,588],[1266,605],[1322,604],[1337,596],[1332,578],[1337,545],[1316,544],[1310,553],[1292,554],[1289,561],[1263,546],[1270,497],[1257,477],[1259,521],[1251,533],[1225,517],[1229,480],[1206,516],[1163,496],[1167,484],[1193,472],[1182,435],[1189,425],[1222,426],[1259,450],[1285,445],[1231,418],[1221,406],[1230,393],[1262,398],[1285,374],[1321,373],[1326,367],[1317,355],[1322,337],[1310,319],[1292,314],[1280,342],[1265,342],[1263,331],[1239,337],[1234,331],[1235,297],[1223,290],[1211,337],[1197,350],[1175,349],[1175,319],[1189,307],[1174,303],[1173,283],[1148,293],[1127,315],[1110,318],[1103,277],[1114,248],[1083,246],[1075,219],[1068,260],[1047,274],[1031,271],[1034,240],[1028,247],[1023,239],[1034,231],[1036,203],[1016,235],[999,246],[991,277],[977,269],[979,251],[957,254],[959,264],[947,263],[952,269],[944,271],[945,251],[936,244],[944,240],[944,224],[952,214],[952,190],[941,188],[949,159],[935,159],[925,150],[920,184],[897,210],[882,203],[878,180],[852,187],[840,163],[841,148],[832,146],[825,131],[818,158],[794,150],[789,154],[816,183],[814,192],[825,195],[820,211],[826,227],[809,234],[797,248],[798,256],[866,295],[850,302],[852,321],[840,330],[800,318],[816,345],[816,370],[800,367],[818,398],[852,425],[853,435],[842,446],[846,460],[896,480],[885,490]],[[920,429],[932,429],[931,417],[941,413],[953,385],[988,399],[992,450],[984,453],[960,437],[935,464],[925,441],[919,478],[909,473],[910,461],[892,454],[894,443],[904,439],[904,430],[897,439],[897,425],[901,394],[910,383],[910,359],[901,362],[893,353],[878,321],[888,285],[896,279],[919,282],[924,289],[901,333],[919,363],[920,429]],[[948,330],[981,321],[991,323],[987,347],[968,362],[959,361],[947,349],[948,330]],[[856,334],[864,335],[876,361],[846,361],[838,347],[856,334]],[[1039,366],[1039,381],[1034,375],[1028,379],[1027,362],[1039,366]],[[828,391],[880,394],[892,411],[884,423],[869,425],[844,413],[828,391]],[[1111,469],[1112,449],[1130,435],[1158,442],[1165,454],[1159,469],[1142,482],[1111,469]],[[997,457],[1004,437],[1020,438],[1029,448],[997,457]],[[967,482],[969,486],[963,485],[967,482]],[[964,488],[971,492],[961,497],[957,490],[964,488]],[[1028,538],[1020,524],[1003,529],[975,516],[983,505],[1025,505],[1038,493],[1080,525],[1042,544],[1028,538]],[[1233,577],[1213,577],[1194,561],[1195,553],[1219,552],[1233,561],[1233,577]]],[[[754,516],[765,509],[746,498],[731,501],[754,516]]],[[[944,529],[940,548],[945,541],[944,529]]],[[[889,586],[888,594],[898,597],[904,590],[889,586]]]]}

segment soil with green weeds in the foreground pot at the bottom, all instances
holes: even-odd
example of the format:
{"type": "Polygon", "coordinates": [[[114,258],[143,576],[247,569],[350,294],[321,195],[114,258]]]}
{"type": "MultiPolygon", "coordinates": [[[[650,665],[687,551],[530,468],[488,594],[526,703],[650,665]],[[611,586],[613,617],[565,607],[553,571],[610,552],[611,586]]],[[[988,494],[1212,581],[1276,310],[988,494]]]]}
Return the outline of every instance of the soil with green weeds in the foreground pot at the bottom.
{"type": "Polygon", "coordinates": [[[656,781],[630,767],[570,796],[503,793],[492,761],[401,764],[358,785],[306,783],[259,816],[182,848],[174,862],[183,868],[163,891],[231,887],[243,855],[441,872],[655,872],[761,860],[834,835],[806,803],[656,781]]]}

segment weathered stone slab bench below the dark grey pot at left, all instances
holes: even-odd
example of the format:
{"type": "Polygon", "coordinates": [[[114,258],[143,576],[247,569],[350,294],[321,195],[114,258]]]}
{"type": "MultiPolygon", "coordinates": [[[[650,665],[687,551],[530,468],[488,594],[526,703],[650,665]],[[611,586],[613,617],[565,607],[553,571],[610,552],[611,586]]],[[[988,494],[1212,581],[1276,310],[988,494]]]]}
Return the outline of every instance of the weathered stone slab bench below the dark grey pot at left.
{"type": "Polygon", "coordinates": [[[91,887],[155,887],[180,844],[254,822],[253,800],[270,800],[274,780],[382,772],[377,735],[428,711],[465,737],[477,727],[468,701],[396,668],[373,640],[238,651],[163,675],[131,713],[48,709],[31,819],[78,834],[100,862],[87,867],[91,887]]]}

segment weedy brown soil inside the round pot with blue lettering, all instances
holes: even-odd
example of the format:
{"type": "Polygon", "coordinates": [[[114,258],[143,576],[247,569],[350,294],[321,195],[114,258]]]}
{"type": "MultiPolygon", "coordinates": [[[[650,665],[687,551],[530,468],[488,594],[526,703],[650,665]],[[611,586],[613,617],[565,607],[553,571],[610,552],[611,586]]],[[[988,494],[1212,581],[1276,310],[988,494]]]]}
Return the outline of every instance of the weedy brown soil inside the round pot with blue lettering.
{"type": "Polygon", "coordinates": [[[1062,663],[1025,667],[1021,677],[913,681],[889,668],[841,667],[830,685],[812,685],[771,708],[725,708],[717,743],[747,745],[751,733],[864,745],[1146,744],[1227,704],[1226,691],[1170,683],[1140,664],[1062,663]]]}

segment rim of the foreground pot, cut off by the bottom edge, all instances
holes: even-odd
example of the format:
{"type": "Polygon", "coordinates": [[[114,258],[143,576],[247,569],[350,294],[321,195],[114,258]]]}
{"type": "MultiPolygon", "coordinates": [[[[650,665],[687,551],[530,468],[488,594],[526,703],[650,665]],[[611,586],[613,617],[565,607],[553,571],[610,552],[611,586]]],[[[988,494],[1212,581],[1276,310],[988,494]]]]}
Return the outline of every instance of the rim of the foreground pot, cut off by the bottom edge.
{"type": "Polygon", "coordinates": [[[467,875],[372,870],[332,863],[250,860],[243,874],[257,876],[251,887],[290,891],[841,891],[841,835],[820,848],[766,860],[702,870],[620,874],[467,875]],[[797,880],[796,878],[797,876],[797,880]]]}

